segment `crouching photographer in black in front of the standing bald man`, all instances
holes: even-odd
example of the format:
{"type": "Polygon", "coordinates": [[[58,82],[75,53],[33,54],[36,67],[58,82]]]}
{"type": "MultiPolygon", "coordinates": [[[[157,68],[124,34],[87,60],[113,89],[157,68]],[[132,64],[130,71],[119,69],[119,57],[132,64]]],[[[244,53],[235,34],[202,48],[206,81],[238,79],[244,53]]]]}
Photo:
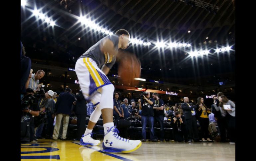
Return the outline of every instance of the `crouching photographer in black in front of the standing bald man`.
{"type": "Polygon", "coordinates": [[[175,116],[171,119],[175,141],[182,142],[187,140],[185,117],[179,111],[175,112],[175,116]],[[183,138],[184,137],[184,138],[183,138]]]}

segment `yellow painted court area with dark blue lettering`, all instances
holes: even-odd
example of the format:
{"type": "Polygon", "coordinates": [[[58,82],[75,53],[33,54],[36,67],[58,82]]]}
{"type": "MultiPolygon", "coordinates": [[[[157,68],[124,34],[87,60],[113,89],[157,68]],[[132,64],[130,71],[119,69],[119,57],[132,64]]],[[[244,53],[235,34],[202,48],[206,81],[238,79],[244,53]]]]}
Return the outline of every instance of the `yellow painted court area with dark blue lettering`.
{"type": "Polygon", "coordinates": [[[102,146],[90,147],[80,146],[71,141],[40,139],[37,143],[21,144],[21,161],[120,161],[98,152],[102,146]]]}

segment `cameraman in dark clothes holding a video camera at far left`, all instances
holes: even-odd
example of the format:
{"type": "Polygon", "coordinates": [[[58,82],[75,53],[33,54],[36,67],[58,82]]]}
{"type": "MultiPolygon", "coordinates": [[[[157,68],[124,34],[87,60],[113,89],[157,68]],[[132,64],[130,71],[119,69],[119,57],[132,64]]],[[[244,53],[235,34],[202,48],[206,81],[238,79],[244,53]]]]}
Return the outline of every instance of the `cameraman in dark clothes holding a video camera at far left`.
{"type": "Polygon", "coordinates": [[[34,139],[34,117],[39,116],[38,100],[34,97],[31,88],[26,90],[26,95],[21,100],[21,142],[30,142],[34,139]]]}

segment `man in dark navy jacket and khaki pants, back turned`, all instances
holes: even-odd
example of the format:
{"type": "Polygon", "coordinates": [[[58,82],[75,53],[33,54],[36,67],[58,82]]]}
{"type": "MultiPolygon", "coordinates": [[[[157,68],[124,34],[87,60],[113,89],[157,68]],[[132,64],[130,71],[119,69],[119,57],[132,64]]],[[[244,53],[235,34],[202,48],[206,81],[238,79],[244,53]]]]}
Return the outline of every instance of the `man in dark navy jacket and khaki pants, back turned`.
{"type": "Polygon", "coordinates": [[[69,122],[69,116],[71,115],[72,104],[75,101],[75,97],[71,95],[72,90],[66,88],[64,93],[61,93],[58,97],[58,101],[55,104],[56,109],[56,123],[53,131],[53,139],[57,140],[60,131],[60,125],[63,118],[63,133],[61,140],[66,139],[67,126],[69,122]]]}

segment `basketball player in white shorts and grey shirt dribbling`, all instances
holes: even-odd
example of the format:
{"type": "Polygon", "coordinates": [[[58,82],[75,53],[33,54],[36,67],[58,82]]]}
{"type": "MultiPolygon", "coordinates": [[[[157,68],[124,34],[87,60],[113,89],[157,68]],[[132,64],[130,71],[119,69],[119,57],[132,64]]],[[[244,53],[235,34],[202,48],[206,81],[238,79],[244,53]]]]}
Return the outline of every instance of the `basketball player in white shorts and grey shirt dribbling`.
{"type": "Polygon", "coordinates": [[[105,133],[103,152],[128,153],[141,146],[140,140],[128,140],[118,135],[119,131],[113,123],[114,85],[106,76],[116,61],[118,49],[128,47],[129,38],[128,31],[120,29],[114,35],[108,35],[99,40],[76,61],[75,73],[83,96],[96,106],[85,133],[80,139],[82,146],[100,144],[100,140],[91,138],[91,132],[101,114],[105,133]]]}

